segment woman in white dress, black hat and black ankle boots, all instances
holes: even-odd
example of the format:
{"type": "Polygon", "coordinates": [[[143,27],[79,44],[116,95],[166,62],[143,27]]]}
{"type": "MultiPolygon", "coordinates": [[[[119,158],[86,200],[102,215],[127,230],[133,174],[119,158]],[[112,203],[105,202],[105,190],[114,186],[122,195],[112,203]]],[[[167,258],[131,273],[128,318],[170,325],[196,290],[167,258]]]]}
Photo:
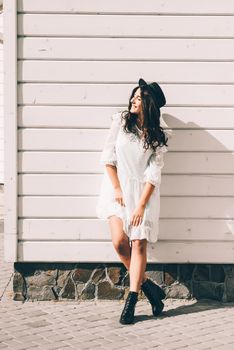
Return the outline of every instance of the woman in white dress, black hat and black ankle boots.
{"type": "Polygon", "coordinates": [[[145,275],[147,242],[156,242],[160,183],[167,137],[160,126],[160,107],[166,99],[157,83],[140,79],[131,93],[128,111],[112,116],[102,151],[105,165],[97,217],[109,219],[112,242],[130,276],[130,289],[120,317],[134,321],[140,288],[153,315],[163,310],[164,291],[145,275]]]}

